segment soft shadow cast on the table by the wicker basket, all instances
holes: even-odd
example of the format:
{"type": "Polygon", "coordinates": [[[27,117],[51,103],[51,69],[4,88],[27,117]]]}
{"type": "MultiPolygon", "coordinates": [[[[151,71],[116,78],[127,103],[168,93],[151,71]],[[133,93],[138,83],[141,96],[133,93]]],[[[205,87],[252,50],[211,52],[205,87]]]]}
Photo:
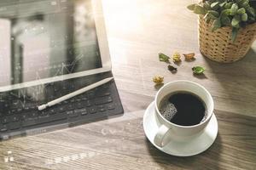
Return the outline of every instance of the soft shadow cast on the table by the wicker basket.
{"type": "MultiPolygon", "coordinates": [[[[227,99],[226,105],[231,111],[237,113],[250,113],[256,110],[253,100],[256,96],[255,72],[256,49],[251,48],[245,58],[230,64],[222,64],[204,57],[209,70],[213,74],[212,80],[219,83],[220,87],[213,94],[215,99],[227,99]]],[[[215,87],[212,87],[215,88],[215,87]]]]}

